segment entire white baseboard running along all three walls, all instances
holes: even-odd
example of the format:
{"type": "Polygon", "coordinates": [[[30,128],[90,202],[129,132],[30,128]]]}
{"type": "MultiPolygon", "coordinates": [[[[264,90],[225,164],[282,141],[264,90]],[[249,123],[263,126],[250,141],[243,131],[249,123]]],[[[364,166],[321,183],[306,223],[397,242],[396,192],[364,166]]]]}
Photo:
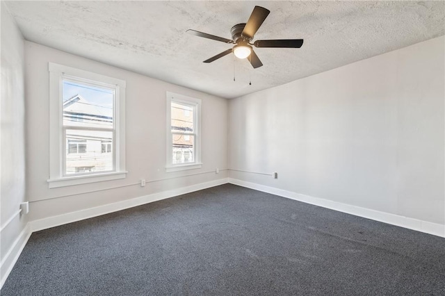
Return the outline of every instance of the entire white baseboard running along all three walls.
{"type": "Polygon", "coordinates": [[[403,217],[400,215],[394,215],[390,213],[384,213],[380,211],[374,211],[369,208],[361,208],[359,206],[351,206],[348,204],[341,204],[339,202],[332,202],[327,199],[320,199],[317,197],[311,197],[309,195],[301,195],[296,192],[286,191],[279,188],[273,188],[269,186],[263,186],[257,183],[251,183],[248,181],[242,181],[232,178],[223,178],[214,181],[209,181],[205,183],[199,183],[192,186],[186,186],[182,188],[177,188],[174,190],[168,190],[163,192],[153,193],[151,195],[145,195],[142,197],[136,197],[133,199],[124,200],[122,202],[115,202],[113,204],[106,204],[104,206],[97,206],[95,208],[88,208],[82,211],[76,211],[72,213],[67,213],[64,215],[57,215],[54,217],[47,217],[40,220],[34,220],[26,224],[23,231],[19,234],[13,246],[9,249],[7,254],[2,258],[0,263],[0,288],[3,287],[6,278],[13,269],[17,259],[26,242],[28,242],[31,233],[34,231],[40,231],[43,229],[48,229],[51,227],[56,227],[59,225],[76,222],[79,220],[88,219],[90,217],[96,217],[99,215],[104,215],[107,213],[113,213],[115,211],[121,211],[126,208],[132,208],[134,206],[140,206],[143,204],[148,204],[150,202],[156,202],[161,199],[168,199],[170,197],[175,197],[178,195],[183,195],[189,192],[194,192],[197,190],[202,190],[206,188],[211,188],[214,186],[223,185],[225,183],[232,183],[238,186],[243,186],[246,188],[252,188],[254,190],[259,190],[262,192],[268,192],[273,195],[279,195],[281,197],[287,197],[289,199],[295,199],[300,202],[305,202],[307,204],[314,204],[316,206],[322,206],[324,208],[330,208],[335,211],[340,211],[343,213],[348,213],[351,215],[356,215],[359,217],[365,217],[371,220],[377,220],[380,222],[385,222],[388,224],[394,224],[399,227],[405,227],[407,229],[413,229],[416,231],[421,231],[424,233],[430,233],[435,236],[442,236],[445,238],[445,225],[436,224],[432,222],[426,222],[422,220],[417,220],[410,217],[403,217]]]}

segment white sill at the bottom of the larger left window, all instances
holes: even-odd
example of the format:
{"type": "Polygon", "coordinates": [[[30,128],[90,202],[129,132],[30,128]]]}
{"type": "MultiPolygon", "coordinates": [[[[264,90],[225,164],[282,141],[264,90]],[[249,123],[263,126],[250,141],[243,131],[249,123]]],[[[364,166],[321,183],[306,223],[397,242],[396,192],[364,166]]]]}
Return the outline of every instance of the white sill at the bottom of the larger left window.
{"type": "Polygon", "coordinates": [[[65,176],[59,179],[48,179],[47,182],[48,182],[48,188],[59,188],[65,186],[81,185],[86,183],[124,179],[125,177],[127,177],[127,171],[109,172],[104,174],[89,174],[82,176],[65,176]]]}

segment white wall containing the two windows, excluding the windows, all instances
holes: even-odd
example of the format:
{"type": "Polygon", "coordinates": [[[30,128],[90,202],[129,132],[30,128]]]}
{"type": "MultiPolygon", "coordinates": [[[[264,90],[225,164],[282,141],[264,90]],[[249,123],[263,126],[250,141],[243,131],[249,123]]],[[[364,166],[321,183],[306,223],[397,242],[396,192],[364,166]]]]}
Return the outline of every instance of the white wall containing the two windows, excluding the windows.
{"type": "Polygon", "coordinates": [[[154,192],[224,179],[227,171],[227,100],[165,83],[147,76],[97,63],[63,51],[25,42],[27,110],[27,192],[30,220],[81,211],[154,192]],[[127,81],[127,179],[65,188],[48,188],[49,177],[49,73],[48,62],[85,69],[127,81]],[[165,92],[202,99],[202,169],[165,173],[165,92]],[[212,171],[212,172],[210,172],[212,171]],[[186,174],[197,174],[185,176],[186,174]],[[147,183],[129,184],[184,176],[147,183]],[[125,187],[120,187],[125,186],[125,187]],[[120,188],[119,188],[120,187],[120,188]],[[102,190],[107,189],[109,190],[102,190]],[[102,191],[97,191],[102,190],[102,191]],[[89,192],[95,191],[91,193],[89,192]]]}

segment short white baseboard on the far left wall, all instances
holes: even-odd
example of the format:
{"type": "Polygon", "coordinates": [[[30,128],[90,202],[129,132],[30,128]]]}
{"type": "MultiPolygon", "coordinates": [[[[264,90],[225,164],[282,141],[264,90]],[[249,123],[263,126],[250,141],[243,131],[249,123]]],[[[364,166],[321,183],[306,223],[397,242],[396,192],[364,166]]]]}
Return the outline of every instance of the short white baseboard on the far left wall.
{"type": "Polygon", "coordinates": [[[22,250],[25,247],[26,242],[28,242],[31,233],[32,231],[29,228],[29,224],[26,224],[22,232],[20,232],[19,236],[17,236],[17,238],[13,242],[13,245],[10,247],[8,252],[5,254],[5,256],[3,256],[3,258],[1,258],[0,289],[3,287],[3,283],[5,283],[11,270],[13,270],[13,267],[17,262],[20,254],[22,254],[22,250]]]}

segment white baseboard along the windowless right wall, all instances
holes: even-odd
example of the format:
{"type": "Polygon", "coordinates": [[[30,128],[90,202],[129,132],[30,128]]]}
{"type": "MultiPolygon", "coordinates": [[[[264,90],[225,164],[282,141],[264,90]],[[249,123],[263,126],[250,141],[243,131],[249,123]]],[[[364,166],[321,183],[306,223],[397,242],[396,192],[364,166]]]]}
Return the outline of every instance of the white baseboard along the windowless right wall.
{"type": "Polygon", "coordinates": [[[287,190],[282,190],[279,188],[269,187],[260,185],[257,183],[251,183],[248,181],[242,181],[239,179],[229,178],[229,183],[243,186],[246,188],[251,188],[254,190],[259,190],[262,192],[267,192],[273,195],[279,195],[280,197],[286,197],[289,199],[295,199],[299,202],[305,202],[307,204],[314,204],[316,206],[322,206],[323,208],[330,208],[335,211],[348,213],[351,215],[365,217],[367,219],[376,220],[380,222],[385,222],[388,224],[393,224],[398,227],[404,227],[407,229],[412,229],[415,231],[421,231],[424,233],[429,233],[435,236],[442,236],[445,238],[445,225],[427,222],[419,219],[414,219],[410,217],[405,217],[401,215],[395,215],[391,213],[385,213],[380,211],[371,210],[369,208],[362,208],[359,206],[352,206],[350,204],[342,204],[340,202],[333,202],[328,199],[321,199],[318,197],[311,197],[309,195],[302,195],[296,192],[291,192],[287,190]]]}

